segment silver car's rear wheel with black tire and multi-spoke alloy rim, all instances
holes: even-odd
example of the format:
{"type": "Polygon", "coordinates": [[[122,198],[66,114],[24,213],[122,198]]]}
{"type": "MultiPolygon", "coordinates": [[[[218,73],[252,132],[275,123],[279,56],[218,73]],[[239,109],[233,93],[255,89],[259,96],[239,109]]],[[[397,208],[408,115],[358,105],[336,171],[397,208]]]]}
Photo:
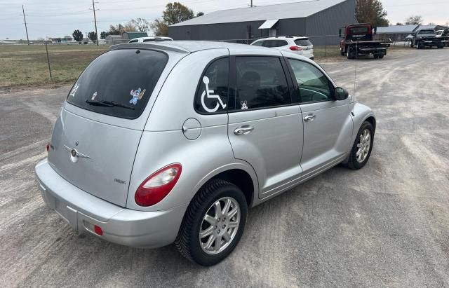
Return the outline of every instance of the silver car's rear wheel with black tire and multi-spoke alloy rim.
{"type": "Polygon", "coordinates": [[[215,265],[236,247],[243,234],[247,214],[248,205],[241,189],[228,181],[213,179],[199,190],[187,207],[175,246],[189,261],[201,266],[215,265]],[[230,203],[228,211],[222,213],[226,203],[230,203]],[[217,210],[221,211],[217,213],[217,210]],[[232,213],[235,214],[225,219],[232,213]],[[201,237],[201,231],[205,236],[201,237]],[[218,239],[222,243],[220,247],[217,247],[218,239]]]}

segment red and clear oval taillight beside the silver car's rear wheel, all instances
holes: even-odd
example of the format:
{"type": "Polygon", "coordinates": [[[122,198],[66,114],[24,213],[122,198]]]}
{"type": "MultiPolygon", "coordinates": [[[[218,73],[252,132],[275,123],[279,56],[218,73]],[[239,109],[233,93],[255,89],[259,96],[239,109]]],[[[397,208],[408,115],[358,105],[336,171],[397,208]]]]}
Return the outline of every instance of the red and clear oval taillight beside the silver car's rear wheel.
{"type": "Polygon", "coordinates": [[[181,171],[181,164],[174,163],[154,172],[135,191],[135,203],[145,207],[159,203],[173,189],[181,171]]]}

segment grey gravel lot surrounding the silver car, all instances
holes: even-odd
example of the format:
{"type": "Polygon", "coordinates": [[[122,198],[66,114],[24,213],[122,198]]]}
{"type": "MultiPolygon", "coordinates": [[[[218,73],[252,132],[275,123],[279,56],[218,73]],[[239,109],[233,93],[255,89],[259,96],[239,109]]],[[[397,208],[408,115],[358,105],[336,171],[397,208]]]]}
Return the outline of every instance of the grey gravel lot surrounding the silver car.
{"type": "MultiPolygon", "coordinates": [[[[210,268],[173,246],[76,235],[33,175],[69,87],[0,95],[1,286],[448,287],[448,62],[448,48],[358,60],[356,97],[378,118],[366,167],[335,167],[250,210],[234,253],[210,268]]],[[[352,93],[355,63],[323,67],[352,93]]]]}

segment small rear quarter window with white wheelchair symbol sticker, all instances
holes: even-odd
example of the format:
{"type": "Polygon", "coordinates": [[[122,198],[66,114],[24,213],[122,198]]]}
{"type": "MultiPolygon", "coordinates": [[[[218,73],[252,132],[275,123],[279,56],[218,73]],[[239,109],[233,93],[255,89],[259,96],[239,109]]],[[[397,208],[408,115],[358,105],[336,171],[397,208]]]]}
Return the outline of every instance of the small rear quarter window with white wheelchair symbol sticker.
{"type": "Polygon", "coordinates": [[[201,76],[194,101],[196,111],[201,114],[226,112],[228,88],[229,57],[225,57],[210,63],[201,76]]]}

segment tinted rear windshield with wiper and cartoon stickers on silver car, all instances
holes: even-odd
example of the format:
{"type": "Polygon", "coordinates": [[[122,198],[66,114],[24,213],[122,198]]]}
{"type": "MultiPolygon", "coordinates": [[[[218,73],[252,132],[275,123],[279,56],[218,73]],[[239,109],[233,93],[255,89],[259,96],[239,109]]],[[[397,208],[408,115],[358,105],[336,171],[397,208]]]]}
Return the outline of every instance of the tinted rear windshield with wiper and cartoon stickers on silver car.
{"type": "Polygon", "coordinates": [[[111,50],[88,65],[67,102],[100,114],[138,118],[167,61],[165,53],[154,50],[111,50]]]}

